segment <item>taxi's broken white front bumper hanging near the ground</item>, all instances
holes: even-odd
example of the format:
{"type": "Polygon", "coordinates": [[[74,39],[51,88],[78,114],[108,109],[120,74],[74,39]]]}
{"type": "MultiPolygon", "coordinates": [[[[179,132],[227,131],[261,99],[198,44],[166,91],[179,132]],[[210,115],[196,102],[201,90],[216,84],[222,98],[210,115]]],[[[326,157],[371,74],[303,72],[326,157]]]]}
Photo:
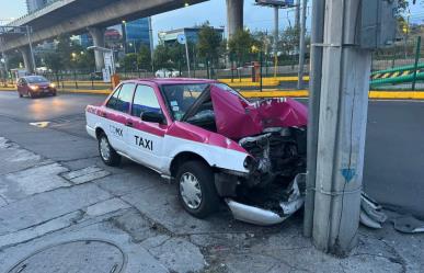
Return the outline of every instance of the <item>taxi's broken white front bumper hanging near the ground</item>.
{"type": "Polygon", "coordinates": [[[242,204],[231,198],[226,198],[226,202],[230,207],[233,217],[238,220],[260,226],[276,225],[290,217],[290,215],[299,211],[299,208],[303,205],[305,198],[299,190],[299,184],[305,184],[305,179],[306,174],[299,173],[290,183],[287,189],[290,193],[288,198],[279,202],[283,214],[277,214],[259,206],[242,204]]]}

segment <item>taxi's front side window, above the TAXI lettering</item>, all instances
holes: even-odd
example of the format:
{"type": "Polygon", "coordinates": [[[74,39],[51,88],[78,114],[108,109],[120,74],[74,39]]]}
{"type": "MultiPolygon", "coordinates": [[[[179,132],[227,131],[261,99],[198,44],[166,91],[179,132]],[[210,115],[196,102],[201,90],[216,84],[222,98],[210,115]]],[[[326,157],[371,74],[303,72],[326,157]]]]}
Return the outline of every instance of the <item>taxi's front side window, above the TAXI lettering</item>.
{"type": "Polygon", "coordinates": [[[134,95],[131,115],[139,117],[145,112],[161,113],[161,109],[153,88],[139,84],[134,95]]]}

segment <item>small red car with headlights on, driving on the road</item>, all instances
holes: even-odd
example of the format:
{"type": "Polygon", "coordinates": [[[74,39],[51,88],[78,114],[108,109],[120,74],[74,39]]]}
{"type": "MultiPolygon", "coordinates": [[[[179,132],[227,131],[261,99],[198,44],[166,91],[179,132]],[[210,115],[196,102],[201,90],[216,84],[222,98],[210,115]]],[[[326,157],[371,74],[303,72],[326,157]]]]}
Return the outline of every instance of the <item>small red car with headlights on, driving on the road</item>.
{"type": "Polygon", "coordinates": [[[18,80],[18,94],[20,98],[28,95],[35,98],[43,94],[56,95],[54,83],[42,76],[26,76],[18,80]]]}

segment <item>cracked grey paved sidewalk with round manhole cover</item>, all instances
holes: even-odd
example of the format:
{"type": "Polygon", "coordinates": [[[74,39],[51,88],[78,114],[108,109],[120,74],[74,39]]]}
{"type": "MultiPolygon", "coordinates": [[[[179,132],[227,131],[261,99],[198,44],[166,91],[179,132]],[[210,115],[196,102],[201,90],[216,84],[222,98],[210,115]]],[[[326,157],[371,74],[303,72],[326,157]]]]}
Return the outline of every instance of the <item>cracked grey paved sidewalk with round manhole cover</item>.
{"type": "Polygon", "coordinates": [[[225,208],[198,220],[181,208],[175,185],[161,183],[156,173],[128,161],[121,168],[102,164],[92,139],[4,117],[0,126],[8,127],[0,137],[0,272],[424,269],[424,235],[399,234],[390,223],[381,230],[360,227],[358,247],[339,259],[302,237],[301,215],[266,228],[236,221],[225,208]],[[55,159],[46,157],[51,148],[32,150],[44,147],[37,139],[46,137],[64,149],[55,159]]]}

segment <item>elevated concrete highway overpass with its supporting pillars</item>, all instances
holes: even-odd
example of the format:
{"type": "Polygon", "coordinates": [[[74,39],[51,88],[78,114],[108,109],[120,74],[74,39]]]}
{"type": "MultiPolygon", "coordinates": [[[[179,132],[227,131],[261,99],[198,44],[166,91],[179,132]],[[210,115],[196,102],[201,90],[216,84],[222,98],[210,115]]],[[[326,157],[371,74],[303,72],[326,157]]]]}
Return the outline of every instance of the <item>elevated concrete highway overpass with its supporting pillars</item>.
{"type": "MultiPolygon", "coordinates": [[[[57,37],[60,34],[81,34],[89,32],[95,46],[104,46],[104,30],[107,26],[151,16],[167,11],[184,8],[185,4],[197,4],[207,0],[57,0],[34,13],[22,16],[8,26],[31,26],[31,39],[34,44],[57,37]]],[[[243,25],[243,0],[226,0],[228,30],[232,34],[243,25]]],[[[222,11],[224,12],[224,11],[222,11]]],[[[172,24],[170,24],[172,27],[172,24]]],[[[2,48],[7,54],[19,49],[25,68],[33,71],[34,64],[28,56],[28,38],[26,35],[3,33],[0,35],[2,48]]],[[[103,64],[102,53],[95,54],[96,68],[103,64]]]]}

